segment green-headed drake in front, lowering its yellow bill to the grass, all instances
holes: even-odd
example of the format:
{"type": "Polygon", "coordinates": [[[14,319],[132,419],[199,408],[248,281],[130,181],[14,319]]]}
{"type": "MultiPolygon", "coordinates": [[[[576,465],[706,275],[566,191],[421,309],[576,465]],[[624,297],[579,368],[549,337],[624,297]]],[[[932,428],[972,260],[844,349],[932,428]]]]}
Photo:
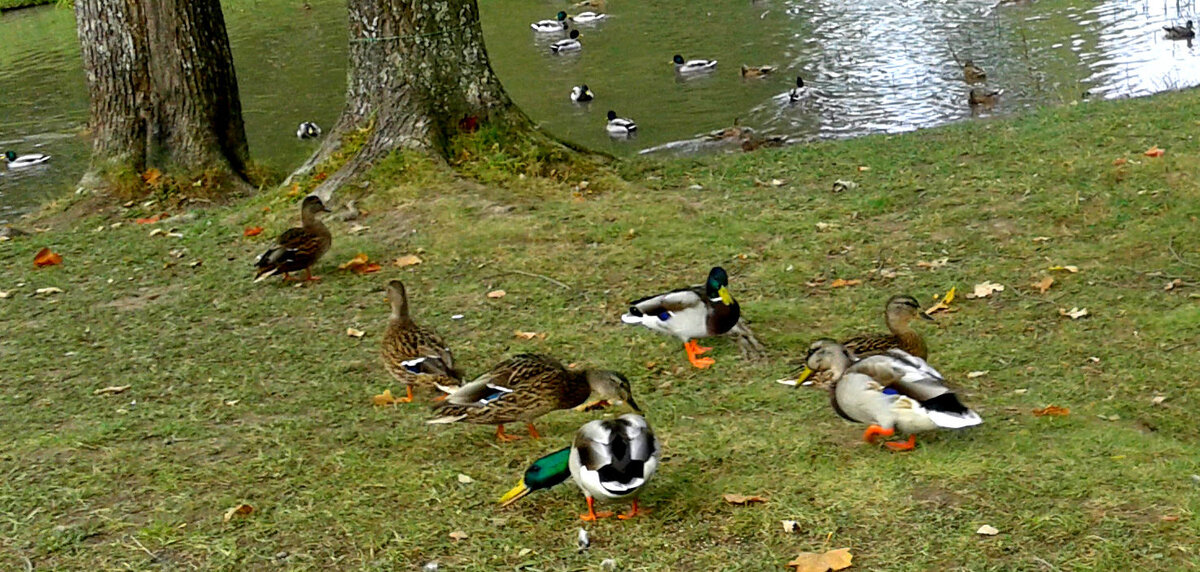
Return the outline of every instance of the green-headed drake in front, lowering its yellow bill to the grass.
{"type": "Polygon", "coordinates": [[[654,432],[641,415],[625,414],[614,420],[590,421],[580,427],[575,442],[535,460],[526,469],[524,477],[512,490],[500,498],[500,506],[509,506],[522,496],[553,487],[568,475],[588,499],[583,520],[611,517],[596,512],[595,500],[632,499],[629,512],[617,518],[628,519],[644,514],[637,507],[637,495],[659,466],[660,446],[654,432]]]}

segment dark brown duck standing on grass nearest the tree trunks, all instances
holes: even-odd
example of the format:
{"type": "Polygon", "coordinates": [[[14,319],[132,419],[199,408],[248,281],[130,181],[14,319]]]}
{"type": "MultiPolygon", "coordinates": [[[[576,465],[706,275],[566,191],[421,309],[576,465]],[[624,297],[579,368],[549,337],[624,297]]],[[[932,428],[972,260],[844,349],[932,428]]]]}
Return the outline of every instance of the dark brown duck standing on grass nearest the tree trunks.
{"type": "Polygon", "coordinates": [[[259,254],[254,260],[254,266],[258,267],[254,282],[265,281],[275,275],[283,275],[283,279],[288,281],[292,279],[288,273],[301,270],[305,272],[305,279],[320,279],[312,275],[311,266],[317,264],[334,243],[329,229],[317,218],[322,212],[329,212],[329,209],[319,198],[312,194],[305,197],[300,204],[300,227],[287,229],[280,235],[275,246],[259,254]]]}

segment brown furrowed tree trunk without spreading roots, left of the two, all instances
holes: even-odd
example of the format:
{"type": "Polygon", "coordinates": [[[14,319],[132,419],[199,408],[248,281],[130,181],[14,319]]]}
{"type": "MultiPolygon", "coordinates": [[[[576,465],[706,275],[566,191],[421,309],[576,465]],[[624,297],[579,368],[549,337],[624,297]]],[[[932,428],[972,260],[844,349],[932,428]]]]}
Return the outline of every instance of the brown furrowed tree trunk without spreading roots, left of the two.
{"type": "Polygon", "coordinates": [[[245,185],[250,146],[217,0],[76,0],[90,95],[92,162],[112,173],[228,175],[245,185]]]}

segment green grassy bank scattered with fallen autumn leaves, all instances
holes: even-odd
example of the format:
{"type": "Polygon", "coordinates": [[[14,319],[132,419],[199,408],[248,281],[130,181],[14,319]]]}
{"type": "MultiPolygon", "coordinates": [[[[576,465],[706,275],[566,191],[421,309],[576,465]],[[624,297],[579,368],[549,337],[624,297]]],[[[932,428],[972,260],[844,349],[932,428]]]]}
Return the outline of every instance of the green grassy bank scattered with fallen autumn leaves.
{"type": "Polygon", "coordinates": [[[565,571],[613,558],[622,570],[769,571],[850,547],[854,570],[1193,570],[1196,116],[1200,91],[1086,103],[624,163],[629,183],[582,192],[539,177],[458,183],[400,157],[360,200],[370,229],[334,223],[325,279],[307,288],[250,279],[252,255],[295,218],[284,193],[203,211],[176,225],[181,239],[133,224],[146,206],[115,229],[91,215],[2,242],[0,562],[565,571]],[[1166,155],[1144,157],[1152,145],[1166,155]],[[839,179],[858,187],[832,193],[839,179]],[[245,239],[250,225],[268,231],[245,239]],[[35,270],[43,246],[65,263],[35,270]],[[425,263],[335,270],[356,252],[425,263]],[[678,343],[619,323],[625,301],[700,282],[714,264],[767,359],[715,341],[716,365],[694,371],[678,343]],[[1044,276],[1056,282],[1039,294],[1044,276]],[[588,526],[593,548],[578,554],[572,484],[494,506],[532,459],[604,414],[557,413],[541,441],[500,446],[486,427],[424,425],[425,405],[373,408],[371,396],[400,390],[376,354],[390,278],[469,372],[534,350],[626,373],[664,441],[643,495],[654,512],[588,526]],[[834,278],[863,284],[830,289],[834,278]],[[892,294],[931,300],[984,281],[1006,289],[922,324],[931,363],[982,427],[893,454],[862,445],[863,427],[824,395],[774,383],[811,338],[878,330],[892,294]],[[46,287],[64,293],[34,294],[46,287]],[[485,297],[492,289],[508,295],[485,297]],[[1091,315],[1058,314],[1072,307],[1091,315]],[[112,385],[131,389],[94,395],[112,385]],[[1031,414],[1048,404],[1070,415],[1031,414]],[[724,493],[769,501],[730,506],[724,493]],[[223,523],[240,502],[254,513],[223,523]],[[1001,534],[976,535],[983,524],[1001,534]]]}

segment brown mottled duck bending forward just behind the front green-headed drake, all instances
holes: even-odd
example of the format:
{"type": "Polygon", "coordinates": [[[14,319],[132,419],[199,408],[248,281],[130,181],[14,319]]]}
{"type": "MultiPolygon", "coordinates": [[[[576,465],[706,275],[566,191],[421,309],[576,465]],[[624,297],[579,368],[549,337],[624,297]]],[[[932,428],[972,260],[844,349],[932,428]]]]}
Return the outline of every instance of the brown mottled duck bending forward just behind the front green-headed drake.
{"type": "Polygon", "coordinates": [[[593,393],[600,399],[623,401],[641,411],[634,402],[629,380],[617,372],[568,369],[546,355],[520,354],[446,396],[434,407],[440,416],[428,423],[494,425],[497,439],[512,441],[520,438],[505,435],[504,423],[522,421],[529,427],[529,434],[539,439],[533,420],[558,409],[582,405],[593,393]]]}

